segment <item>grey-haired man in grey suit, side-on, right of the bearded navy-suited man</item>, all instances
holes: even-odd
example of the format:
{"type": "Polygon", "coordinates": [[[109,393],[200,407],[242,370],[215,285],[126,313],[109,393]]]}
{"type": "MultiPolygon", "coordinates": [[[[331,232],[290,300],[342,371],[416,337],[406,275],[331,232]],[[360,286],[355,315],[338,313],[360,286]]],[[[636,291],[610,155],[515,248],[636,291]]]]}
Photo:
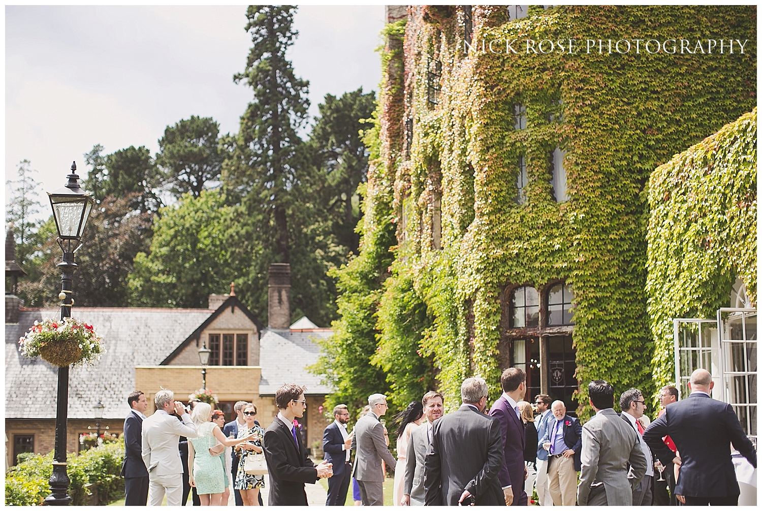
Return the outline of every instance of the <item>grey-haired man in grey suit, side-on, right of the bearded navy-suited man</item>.
{"type": "Polygon", "coordinates": [[[383,414],[389,409],[386,406],[384,394],[372,394],[368,398],[370,412],[363,415],[354,425],[352,450],[357,452],[354,457],[354,472],[360,487],[360,499],[363,506],[383,506],[383,473],[381,460],[394,470],[397,465],[384,439],[384,427],[380,422],[383,414]]]}

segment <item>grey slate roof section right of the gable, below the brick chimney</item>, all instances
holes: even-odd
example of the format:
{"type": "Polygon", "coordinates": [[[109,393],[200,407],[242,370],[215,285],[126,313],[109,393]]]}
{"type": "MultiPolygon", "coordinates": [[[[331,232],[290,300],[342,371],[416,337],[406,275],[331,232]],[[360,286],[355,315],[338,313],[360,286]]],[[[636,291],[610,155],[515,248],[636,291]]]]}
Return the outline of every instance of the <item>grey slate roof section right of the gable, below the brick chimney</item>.
{"type": "MultiPolygon", "coordinates": [[[[308,320],[309,321],[309,320],[308,320]]],[[[262,377],[260,395],[275,395],[284,383],[306,385],[305,394],[330,394],[333,389],[320,382],[319,375],[306,370],[320,354],[319,339],[330,337],[329,328],[310,330],[267,330],[259,340],[259,365],[262,377]]]]}

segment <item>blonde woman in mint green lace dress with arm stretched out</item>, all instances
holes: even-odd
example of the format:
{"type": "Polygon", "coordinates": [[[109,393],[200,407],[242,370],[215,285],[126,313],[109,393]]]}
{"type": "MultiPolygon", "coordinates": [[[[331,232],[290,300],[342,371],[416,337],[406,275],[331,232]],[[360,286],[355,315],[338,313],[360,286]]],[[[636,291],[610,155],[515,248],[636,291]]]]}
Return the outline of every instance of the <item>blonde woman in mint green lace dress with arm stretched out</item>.
{"type": "Polygon", "coordinates": [[[225,491],[225,474],[223,461],[219,453],[212,454],[210,449],[219,443],[223,446],[237,446],[248,442],[254,436],[239,439],[228,439],[212,420],[212,407],[207,403],[199,403],[191,414],[196,425],[197,438],[188,439],[188,468],[191,486],[196,492],[202,506],[221,506],[225,491]]]}

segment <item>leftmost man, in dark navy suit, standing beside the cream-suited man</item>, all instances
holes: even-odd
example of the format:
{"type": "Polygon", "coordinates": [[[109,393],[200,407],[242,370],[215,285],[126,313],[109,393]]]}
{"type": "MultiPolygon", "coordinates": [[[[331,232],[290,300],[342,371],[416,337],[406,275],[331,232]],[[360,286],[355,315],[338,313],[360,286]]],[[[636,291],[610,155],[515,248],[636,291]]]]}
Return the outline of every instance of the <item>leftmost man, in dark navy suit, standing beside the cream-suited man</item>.
{"type": "Polygon", "coordinates": [[[148,470],[142,461],[142,421],[143,413],[148,409],[146,395],[134,391],[127,397],[127,404],[132,410],[124,420],[124,505],[145,506],[148,503],[148,470]]]}

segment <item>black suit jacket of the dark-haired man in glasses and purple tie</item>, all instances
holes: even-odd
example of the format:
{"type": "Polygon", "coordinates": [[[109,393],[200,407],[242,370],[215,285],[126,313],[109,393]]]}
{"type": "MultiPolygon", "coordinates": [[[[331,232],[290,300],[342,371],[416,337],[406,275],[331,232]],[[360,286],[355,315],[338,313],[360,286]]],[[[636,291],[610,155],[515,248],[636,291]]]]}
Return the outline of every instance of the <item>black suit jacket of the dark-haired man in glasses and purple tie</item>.
{"type": "Polygon", "coordinates": [[[264,431],[264,459],[270,473],[271,506],[306,506],[304,484],[318,481],[318,469],[309,459],[302,436],[296,434],[297,449],[291,430],[279,417],[264,431]]]}

